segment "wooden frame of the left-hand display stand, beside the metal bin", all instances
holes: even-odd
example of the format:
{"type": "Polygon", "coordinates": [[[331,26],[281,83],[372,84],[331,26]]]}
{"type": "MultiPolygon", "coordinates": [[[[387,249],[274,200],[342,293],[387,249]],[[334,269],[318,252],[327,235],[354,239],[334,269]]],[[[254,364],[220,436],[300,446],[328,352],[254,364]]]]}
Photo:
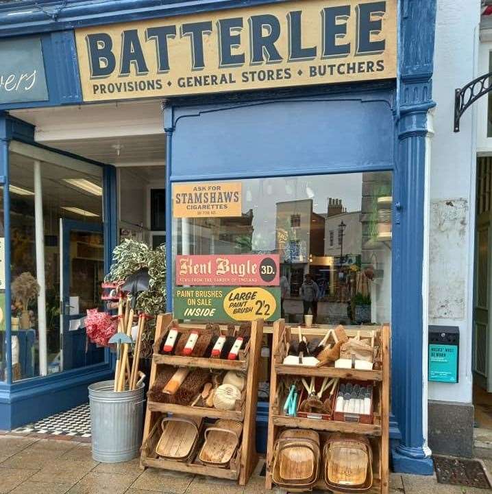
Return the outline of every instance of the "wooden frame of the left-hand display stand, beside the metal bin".
{"type": "MultiPolygon", "coordinates": [[[[162,314],[157,318],[157,341],[164,331],[171,326],[173,318],[171,314],[162,314]]],[[[182,328],[205,328],[205,325],[180,325],[182,328]]],[[[160,469],[182,471],[187,473],[210,475],[212,477],[238,480],[240,485],[247,484],[251,473],[258,462],[256,454],[256,403],[258,401],[258,362],[261,354],[263,336],[263,321],[251,322],[251,338],[249,350],[241,352],[239,360],[219,360],[199,357],[181,357],[177,355],[160,355],[154,353],[149,377],[149,388],[156,381],[158,366],[180,366],[206,369],[219,369],[223,371],[238,371],[246,373],[246,385],[243,392],[241,406],[236,410],[217,410],[190,405],[173,405],[169,403],[156,403],[147,401],[145,425],[143,430],[142,454],[140,466],[160,469]],[[243,422],[243,435],[236,456],[231,460],[228,468],[212,467],[202,464],[197,458],[191,458],[188,462],[179,462],[160,458],[156,454],[156,445],[160,438],[160,420],[166,414],[184,414],[188,416],[201,416],[210,419],[234,419],[243,422]]]]}

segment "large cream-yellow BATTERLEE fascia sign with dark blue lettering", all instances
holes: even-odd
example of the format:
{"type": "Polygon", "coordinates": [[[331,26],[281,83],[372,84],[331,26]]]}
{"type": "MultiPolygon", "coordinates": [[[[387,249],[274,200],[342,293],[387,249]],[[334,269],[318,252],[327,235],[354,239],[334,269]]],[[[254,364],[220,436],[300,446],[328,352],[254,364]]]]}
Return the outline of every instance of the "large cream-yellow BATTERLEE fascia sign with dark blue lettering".
{"type": "Polygon", "coordinates": [[[397,0],[286,1],[75,37],[86,102],[387,79],[397,0]]]}

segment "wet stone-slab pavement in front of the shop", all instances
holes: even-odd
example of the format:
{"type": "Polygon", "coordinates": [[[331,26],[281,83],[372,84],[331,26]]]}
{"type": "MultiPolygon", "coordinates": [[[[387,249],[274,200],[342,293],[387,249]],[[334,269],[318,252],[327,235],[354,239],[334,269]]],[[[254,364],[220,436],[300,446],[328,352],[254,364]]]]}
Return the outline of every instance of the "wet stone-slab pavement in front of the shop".
{"type": "MultiPolygon", "coordinates": [[[[487,470],[492,460],[484,460],[487,470]]],[[[245,487],[233,482],[141,470],[138,459],[95,462],[90,444],[32,436],[0,436],[0,494],[263,494],[265,478],[256,474],[245,487]]],[[[277,493],[282,491],[276,490],[277,493]]],[[[487,494],[483,489],[438,484],[435,477],[391,474],[391,494],[487,494]]]]}

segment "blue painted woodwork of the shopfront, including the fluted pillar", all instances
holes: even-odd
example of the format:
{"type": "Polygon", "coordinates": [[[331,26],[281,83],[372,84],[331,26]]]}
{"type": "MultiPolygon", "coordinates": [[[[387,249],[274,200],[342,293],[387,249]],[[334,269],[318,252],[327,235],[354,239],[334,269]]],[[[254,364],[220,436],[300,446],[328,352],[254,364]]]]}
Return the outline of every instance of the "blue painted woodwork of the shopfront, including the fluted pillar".
{"type": "MultiPolygon", "coordinates": [[[[0,37],[40,34],[49,101],[0,109],[82,104],[75,27],[277,1],[282,0],[14,1],[1,5],[0,37]]],[[[164,112],[167,187],[193,180],[393,172],[392,458],[396,471],[410,473],[432,472],[423,449],[421,349],[423,204],[427,112],[434,105],[434,23],[434,0],[400,1],[396,80],[170,99],[164,112]]],[[[32,142],[33,136],[32,129],[7,115],[1,116],[0,123],[0,178],[6,187],[8,141],[15,137],[32,142]]],[[[109,261],[110,246],[116,242],[116,186],[114,169],[105,170],[105,215],[111,220],[105,224],[109,261]]],[[[167,198],[167,237],[171,238],[171,194],[167,198]]],[[[9,210],[8,194],[4,207],[9,210]]],[[[5,237],[8,246],[8,214],[5,237]]],[[[170,248],[168,255],[171,266],[170,248]]],[[[8,257],[9,252],[7,266],[8,257]]],[[[10,314],[6,316],[9,322],[10,314]]],[[[6,338],[10,338],[9,324],[6,338]]],[[[9,384],[10,376],[7,384],[0,384],[0,428],[32,420],[36,408],[47,414],[75,405],[81,394],[86,395],[86,385],[108,372],[109,364],[105,365],[19,384],[9,384]],[[49,401],[56,404],[46,405],[49,401]]],[[[258,410],[259,421],[265,421],[265,413],[258,410]]]]}

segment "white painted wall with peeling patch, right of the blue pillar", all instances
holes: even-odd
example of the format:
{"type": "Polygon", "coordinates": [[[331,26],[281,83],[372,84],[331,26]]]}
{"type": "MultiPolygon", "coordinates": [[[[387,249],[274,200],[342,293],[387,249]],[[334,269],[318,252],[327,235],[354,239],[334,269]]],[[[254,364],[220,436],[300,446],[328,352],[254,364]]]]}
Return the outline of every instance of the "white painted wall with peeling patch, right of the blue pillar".
{"type": "MultiPolygon", "coordinates": [[[[428,323],[460,329],[458,384],[428,383],[428,398],[471,402],[476,132],[469,108],[453,132],[454,90],[476,77],[480,1],[438,0],[428,187],[428,323]]],[[[426,304],[424,304],[425,307],[426,304]]],[[[424,328],[427,331],[427,328],[424,328]]],[[[425,335],[424,340],[427,339],[425,335]]],[[[427,368],[427,353],[423,365],[427,368]]],[[[425,388],[426,381],[423,386],[425,388]]]]}

